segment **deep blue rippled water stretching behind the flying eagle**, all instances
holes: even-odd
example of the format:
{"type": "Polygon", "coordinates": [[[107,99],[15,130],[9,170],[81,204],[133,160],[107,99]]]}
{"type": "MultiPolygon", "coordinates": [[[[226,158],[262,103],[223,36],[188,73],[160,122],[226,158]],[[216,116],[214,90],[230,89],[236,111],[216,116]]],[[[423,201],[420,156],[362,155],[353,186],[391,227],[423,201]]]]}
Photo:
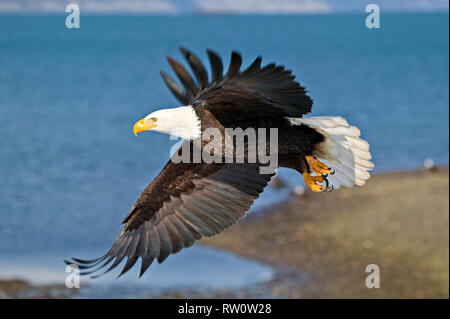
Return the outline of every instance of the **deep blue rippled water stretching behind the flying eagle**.
{"type": "MultiPolygon", "coordinates": [[[[448,164],[448,14],[385,14],[380,29],[364,20],[82,16],[69,30],[64,15],[0,15],[0,256],[109,248],[174,144],[132,125],[178,105],[159,71],[167,54],[181,59],[179,45],[205,62],[208,47],[225,61],[237,49],[245,65],[262,55],[294,70],[313,114],[361,128],[378,172],[448,164]]],[[[276,197],[269,189],[257,205],[276,197]]]]}

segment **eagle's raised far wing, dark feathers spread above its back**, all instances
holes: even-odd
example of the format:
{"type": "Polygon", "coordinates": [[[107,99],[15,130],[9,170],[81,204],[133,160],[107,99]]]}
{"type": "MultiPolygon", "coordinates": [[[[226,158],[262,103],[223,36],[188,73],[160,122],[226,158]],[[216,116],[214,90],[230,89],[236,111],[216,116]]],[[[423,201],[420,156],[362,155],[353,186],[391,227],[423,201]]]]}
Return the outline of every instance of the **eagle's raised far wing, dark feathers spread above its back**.
{"type": "Polygon", "coordinates": [[[196,81],[186,69],[168,57],[182,88],[169,75],[161,75],[169,89],[184,105],[202,106],[214,114],[230,111],[258,112],[259,114],[299,117],[309,113],[313,104],[305,88],[297,81],[292,71],[274,63],[261,67],[261,57],[241,72],[242,57],[231,54],[228,71],[223,75],[220,57],[207,50],[211,63],[211,81],[200,60],[185,48],[180,48],[189,63],[196,81]]]}

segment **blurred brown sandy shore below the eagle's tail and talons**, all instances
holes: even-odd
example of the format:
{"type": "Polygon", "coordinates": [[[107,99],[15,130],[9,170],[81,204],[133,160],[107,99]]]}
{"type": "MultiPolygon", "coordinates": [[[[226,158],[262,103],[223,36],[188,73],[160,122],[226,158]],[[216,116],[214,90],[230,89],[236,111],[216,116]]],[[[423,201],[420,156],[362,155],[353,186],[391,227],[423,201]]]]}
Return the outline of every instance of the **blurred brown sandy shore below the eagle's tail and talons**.
{"type": "Polygon", "coordinates": [[[279,297],[448,298],[448,168],[306,192],[201,243],[289,269],[269,285],[279,297]],[[365,285],[369,264],[379,266],[380,288],[365,285]]]}

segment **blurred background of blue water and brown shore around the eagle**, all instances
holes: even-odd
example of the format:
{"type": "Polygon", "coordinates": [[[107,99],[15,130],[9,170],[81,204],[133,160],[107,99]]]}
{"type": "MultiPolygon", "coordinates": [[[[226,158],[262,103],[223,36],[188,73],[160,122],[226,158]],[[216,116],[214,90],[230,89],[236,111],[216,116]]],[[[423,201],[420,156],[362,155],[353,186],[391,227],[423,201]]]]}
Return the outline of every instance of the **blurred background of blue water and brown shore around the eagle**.
{"type": "Polygon", "coordinates": [[[448,298],[448,30],[440,0],[0,0],[0,297],[448,298]],[[168,160],[175,141],[132,125],[178,105],[159,72],[179,45],[293,70],[314,115],[361,129],[375,176],[317,196],[280,170],[223,235],[67,289],[63,258],[102,255],[168,160]]]}

